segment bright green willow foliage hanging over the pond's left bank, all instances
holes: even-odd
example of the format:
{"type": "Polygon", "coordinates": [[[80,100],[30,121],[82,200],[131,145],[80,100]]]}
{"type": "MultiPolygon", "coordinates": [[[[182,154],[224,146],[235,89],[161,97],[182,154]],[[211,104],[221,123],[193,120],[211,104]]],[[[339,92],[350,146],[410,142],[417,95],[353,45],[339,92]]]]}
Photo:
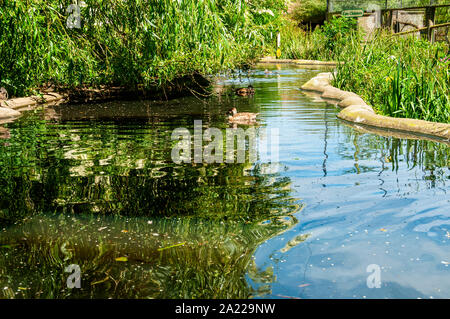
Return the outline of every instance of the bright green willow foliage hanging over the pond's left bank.
{"type": "Polygon", "coordinates": [[[11,96],[44,82],[149,88],[235,68],[271,41],[285,1],[85,2],[81,28],[68,29],[64,1],[4,1],[0,86],[11,96]]]}

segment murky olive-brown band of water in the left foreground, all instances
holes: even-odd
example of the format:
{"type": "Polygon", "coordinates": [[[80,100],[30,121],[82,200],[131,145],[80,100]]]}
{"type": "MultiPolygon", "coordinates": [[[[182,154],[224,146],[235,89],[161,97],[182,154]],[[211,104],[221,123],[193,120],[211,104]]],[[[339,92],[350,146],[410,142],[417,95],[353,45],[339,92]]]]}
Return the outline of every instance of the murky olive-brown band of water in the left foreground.
{"type": "Polygon", "coordinates": [[[283,223],[202,218],[76,218],[41,215],[0,232],[3,298],[249,298],[246,280],[274,281],[253,253],[283,223]],[[81,288],[67,288],[68,265],[81,288]]]}

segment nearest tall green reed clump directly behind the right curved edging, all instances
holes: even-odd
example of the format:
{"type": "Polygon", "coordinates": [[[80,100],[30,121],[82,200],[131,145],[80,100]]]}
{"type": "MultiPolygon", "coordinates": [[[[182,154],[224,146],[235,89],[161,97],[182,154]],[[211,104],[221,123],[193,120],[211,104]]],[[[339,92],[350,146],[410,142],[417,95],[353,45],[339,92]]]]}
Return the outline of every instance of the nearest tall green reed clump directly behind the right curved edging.
{"type": "Polygon", "coordinates": [[[380,33],[370,42],[357,39],[336,55],[335,85],[361,95],[380,113],[450,122],[449,64],[445,43],[380,33]]]}

